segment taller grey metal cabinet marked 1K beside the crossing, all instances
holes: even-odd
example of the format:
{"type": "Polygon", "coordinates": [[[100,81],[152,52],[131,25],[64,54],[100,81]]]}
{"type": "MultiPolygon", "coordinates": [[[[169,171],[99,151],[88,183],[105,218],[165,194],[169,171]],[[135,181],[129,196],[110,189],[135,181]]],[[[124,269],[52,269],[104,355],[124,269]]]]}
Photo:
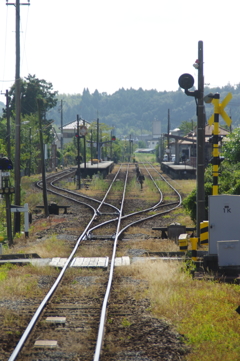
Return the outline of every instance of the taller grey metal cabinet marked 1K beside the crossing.
{"type": "Polygon", "coordinates": [[[240,196],[209,196],[208,204],[209,255],[217,255],[218,241],[240,240],[240,196]]]}

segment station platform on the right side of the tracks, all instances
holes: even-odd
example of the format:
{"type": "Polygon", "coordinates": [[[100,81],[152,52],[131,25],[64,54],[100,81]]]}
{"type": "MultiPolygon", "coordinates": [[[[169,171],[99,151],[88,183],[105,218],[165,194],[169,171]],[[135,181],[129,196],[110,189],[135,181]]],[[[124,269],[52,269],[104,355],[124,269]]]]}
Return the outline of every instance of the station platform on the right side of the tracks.
{"type": "Polygon", "coordinates": [[[162,162],[161,170],[173,179],[196,179],[196,168],[184,163],[162,162]]]}

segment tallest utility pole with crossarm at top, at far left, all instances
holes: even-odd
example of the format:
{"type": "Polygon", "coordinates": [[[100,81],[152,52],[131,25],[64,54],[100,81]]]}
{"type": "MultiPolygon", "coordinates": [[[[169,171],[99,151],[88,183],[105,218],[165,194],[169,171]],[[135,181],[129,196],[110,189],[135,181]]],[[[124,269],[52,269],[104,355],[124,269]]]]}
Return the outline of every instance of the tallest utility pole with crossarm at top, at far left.
{"type": "MultiPolygon", "coordinates": [[[[21,79],[20,79],[20,5],[30,5],[21,3],[16,0],[15,3],[6,5],[14,5],[16,8],[16,72],[15,72],[15,204],[20,206],[21,203],[21,173],[20,173],[20,122],[21,122],[21,79]]],[[[14,233],[20,232],[20,212],[14,213],[14,233]]]]}

